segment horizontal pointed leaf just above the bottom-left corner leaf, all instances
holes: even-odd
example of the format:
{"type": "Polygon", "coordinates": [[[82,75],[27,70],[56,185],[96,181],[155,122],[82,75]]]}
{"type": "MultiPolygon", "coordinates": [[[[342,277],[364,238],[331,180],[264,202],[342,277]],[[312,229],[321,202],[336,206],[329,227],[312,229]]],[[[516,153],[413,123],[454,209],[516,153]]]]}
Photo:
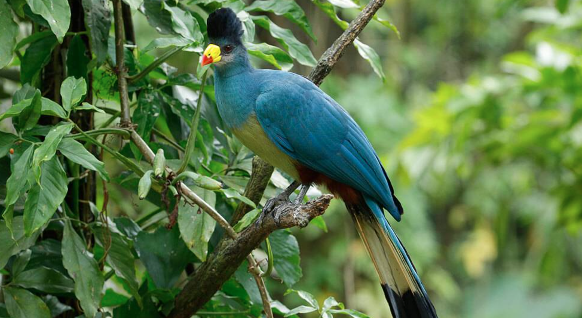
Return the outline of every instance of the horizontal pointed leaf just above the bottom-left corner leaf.
{"type": "Polygon", "coordinates": [[[48,267],[37,267],[17,274],[13,284],[24,288],[34,288],[50,294],[73,292],[74,283],[61,272],[48,267]]]}

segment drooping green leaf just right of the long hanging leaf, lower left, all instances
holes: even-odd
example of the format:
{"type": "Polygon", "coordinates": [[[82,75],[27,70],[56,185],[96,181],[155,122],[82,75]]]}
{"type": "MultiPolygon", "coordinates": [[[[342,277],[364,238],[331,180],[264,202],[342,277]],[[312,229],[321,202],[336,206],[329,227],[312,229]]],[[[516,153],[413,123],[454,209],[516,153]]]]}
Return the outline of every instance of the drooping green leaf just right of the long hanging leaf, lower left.
{"type": "Polygon", "coordinates": [[[109,252],[106,258],[107,263],[115,270],[115,274],[126,282],[131,294],[141,303],[139,282],[136,277],[135,260],[130,242],[115,231],[109,231],[106,234],[102,227],[94,227],[93,231],[95,238],[97,238],[101,246],[104,246],[103,240],[107,238],[107,235],[111,237],[111,246],[109,246],[109,252]]]}

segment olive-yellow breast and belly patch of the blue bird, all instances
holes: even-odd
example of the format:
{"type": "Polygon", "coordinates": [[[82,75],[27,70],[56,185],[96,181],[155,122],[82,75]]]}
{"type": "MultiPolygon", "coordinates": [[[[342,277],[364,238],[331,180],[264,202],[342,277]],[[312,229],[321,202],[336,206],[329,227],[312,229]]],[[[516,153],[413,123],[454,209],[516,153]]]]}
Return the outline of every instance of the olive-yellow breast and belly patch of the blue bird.
{"type": "Polygon", "coordinates": [[[282,152],[269,140],[269,137],[265,134],[255,115],[251,115],[245,124],[233,129],[232,132],[255,155],[260,156],[277,169],[289,174],[294,180],[299,180],[295,160],[285,152],[282,152]]]}

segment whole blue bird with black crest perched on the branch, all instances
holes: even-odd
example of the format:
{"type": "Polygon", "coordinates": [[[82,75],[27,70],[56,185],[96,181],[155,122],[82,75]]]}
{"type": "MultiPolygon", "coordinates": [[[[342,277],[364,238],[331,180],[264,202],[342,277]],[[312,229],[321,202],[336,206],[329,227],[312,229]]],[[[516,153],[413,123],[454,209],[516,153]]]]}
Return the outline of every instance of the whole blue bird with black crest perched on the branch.
{"type": "Polygon", "coordinates": [[[288,201],[302,185],[327,187],[342,198],[372,262],[395,318],[437,317],[434,306],[383,210],[403,213],[388,175],[364,132],[345,109],[307,78],[254,69],[231,9],[211,13],[210,44],[202,65],[214,65],[214,89],[223,122],[251,151],[296,180],[274,202],[288,201]]]}

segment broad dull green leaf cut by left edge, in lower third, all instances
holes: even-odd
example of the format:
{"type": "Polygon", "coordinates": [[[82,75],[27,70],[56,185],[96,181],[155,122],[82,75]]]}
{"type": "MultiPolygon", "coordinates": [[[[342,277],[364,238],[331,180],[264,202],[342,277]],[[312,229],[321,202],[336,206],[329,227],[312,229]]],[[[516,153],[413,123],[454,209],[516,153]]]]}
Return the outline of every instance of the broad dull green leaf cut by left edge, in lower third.
{"type": "Polygon", "coordinates": [[[31,237],[24,235],[24,222],[22,216],[15,216],[12,220],[12,232],[6,226],[6,221],[0,220],[0,269],[6,266],[10,256],[29,248],[36,242],[38,234],[31,237]]]}

